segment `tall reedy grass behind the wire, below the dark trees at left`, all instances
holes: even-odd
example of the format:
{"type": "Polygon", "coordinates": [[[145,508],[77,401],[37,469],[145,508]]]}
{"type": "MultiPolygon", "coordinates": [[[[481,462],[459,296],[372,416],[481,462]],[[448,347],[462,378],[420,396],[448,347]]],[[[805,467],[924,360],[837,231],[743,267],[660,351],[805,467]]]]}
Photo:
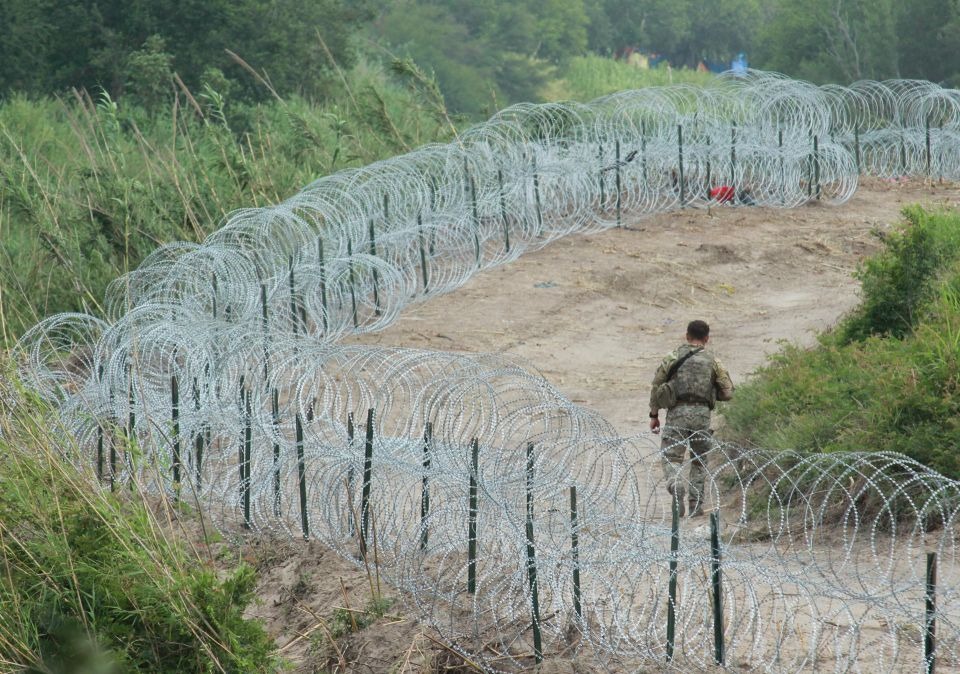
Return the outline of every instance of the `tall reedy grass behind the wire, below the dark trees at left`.
{"type": "Polygon", "coordinates": [[[180,88],[154,110],[105,94],[0,105],[0,327],[5,344],[159,244],[197,241],[241,207],[450,136],[422,88],[360,63],[323,104],[234,102],[180,88]]]}

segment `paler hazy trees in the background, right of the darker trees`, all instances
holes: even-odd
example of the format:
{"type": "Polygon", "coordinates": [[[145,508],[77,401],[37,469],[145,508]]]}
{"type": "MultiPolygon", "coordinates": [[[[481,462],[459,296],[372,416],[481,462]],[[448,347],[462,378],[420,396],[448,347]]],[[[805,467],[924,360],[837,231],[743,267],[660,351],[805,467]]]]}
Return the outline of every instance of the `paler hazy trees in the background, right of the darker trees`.
{"type": "MultiPolygon", "coordinates": [[[[960,83],[955,0],[383,0],[372,33],[435,69],[451,105],[535,100],[538,82],[575,56],[633,47],[674,68],[729,64],[818,83],[907,77],[960,83]],[[425,31],[429,31],[429,38],[425,31]],[[455,92],[456,90],[456,92],[455,92]]],[[[458,106],[463,105],[464,108],[458,106]]]]}

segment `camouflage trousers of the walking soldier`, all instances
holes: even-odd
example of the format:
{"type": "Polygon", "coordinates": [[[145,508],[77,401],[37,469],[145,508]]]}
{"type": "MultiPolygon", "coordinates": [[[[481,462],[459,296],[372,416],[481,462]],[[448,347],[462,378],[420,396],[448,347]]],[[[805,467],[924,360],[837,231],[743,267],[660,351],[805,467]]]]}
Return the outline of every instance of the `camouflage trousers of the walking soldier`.
{"type": "Polygon", "coordinates": [[[707,479],[707,455],[713,449],[710,432],[710,408],[706,405],[681,405],[667,412],[660,441],[663,475],[667,491],[690,503],[702,504],[707,479]],[[690,452],[690,478],[683,477],[684,461],[690,452]]]}

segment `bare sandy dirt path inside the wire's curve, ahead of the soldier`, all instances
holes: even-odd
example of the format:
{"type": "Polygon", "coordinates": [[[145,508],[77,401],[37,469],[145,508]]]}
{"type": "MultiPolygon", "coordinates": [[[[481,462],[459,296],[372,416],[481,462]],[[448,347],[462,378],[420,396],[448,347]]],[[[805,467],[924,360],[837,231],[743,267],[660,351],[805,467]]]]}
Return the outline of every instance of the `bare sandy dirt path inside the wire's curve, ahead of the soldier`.
{"type": "Polygon", "coordinates": [[[410,307],[353,341],[527,359],[623,435],[646,426],[657,363],[686,323],[743,381],[780,340],[811,344],[857,301],[852,273],[911,203],[960,203],[960,187],[870,181],[840,207],[685,210],[572,236],[410,307]]]}

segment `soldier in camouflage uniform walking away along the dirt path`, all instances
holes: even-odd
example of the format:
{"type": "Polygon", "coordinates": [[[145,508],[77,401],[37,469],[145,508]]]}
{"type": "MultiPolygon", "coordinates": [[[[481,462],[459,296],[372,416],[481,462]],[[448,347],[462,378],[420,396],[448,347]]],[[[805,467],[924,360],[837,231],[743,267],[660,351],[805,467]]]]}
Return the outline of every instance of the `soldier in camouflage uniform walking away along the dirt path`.
{"type": "Polygon", "coordinates": [[[733,382],[726,368],[706,350],[710,326],[704,321],[687,325],[687,342],[660,363],[650,389],[650,430],[660,432],[660,408],[667,409],[660,447],[667,491],[684,513],[681,476],[686,449],[690,448],[690,517],[703,514],[707,452],[710,451],[710,412],[718,400],[733,397],[733,382]]]}

